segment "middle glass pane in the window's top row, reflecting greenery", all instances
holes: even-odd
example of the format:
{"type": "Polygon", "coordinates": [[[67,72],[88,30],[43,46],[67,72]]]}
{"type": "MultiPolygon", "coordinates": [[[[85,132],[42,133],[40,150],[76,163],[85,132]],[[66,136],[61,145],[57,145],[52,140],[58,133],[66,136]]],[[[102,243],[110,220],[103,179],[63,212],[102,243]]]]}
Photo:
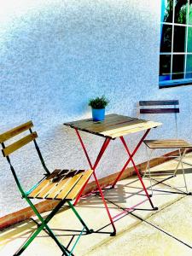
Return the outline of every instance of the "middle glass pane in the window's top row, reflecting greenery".
{"type": "Polygon", "coordinates": [[[175,0],[174,23],[186,24],[188,13],[188,0],[175,0]]]}

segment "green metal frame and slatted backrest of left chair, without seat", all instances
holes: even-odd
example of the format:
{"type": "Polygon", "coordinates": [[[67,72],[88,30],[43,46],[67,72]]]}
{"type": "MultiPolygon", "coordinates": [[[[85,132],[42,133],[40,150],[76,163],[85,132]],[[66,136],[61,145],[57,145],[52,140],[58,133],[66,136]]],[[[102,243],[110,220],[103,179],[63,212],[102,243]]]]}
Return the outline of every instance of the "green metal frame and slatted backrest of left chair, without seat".
{"type": "Polygon", "coordinates": [[[17,126],[14,129],[10,130],[10,131],[6,131],[3,134],[0,135],[0,143],[2,144],[2,151],[3,151],[3,156],[6,157],[6,159],[8,160],[9,163],[9,167],[11,172],[13,173],[13,176],[15,178],[15,182],[17,184],[18,189],[20,190],[20,194],[22,196],[23,199],[25,199],[27,201],[27,203],[30,205],[30,207],[32,207],[33,212],[37,215],[38,220],[40,221],[41,224],[38,224],[38,228],[37,230],[35,230],[32,233],[32,236],[30,236],[27,241],[20,247],[20,249],[14,254],[14,255],[20,255],[21,253],[23,253],[26,250],[26,247],[28,247],[31,242],[35,239],[35,237],[38,236],[39,232],[42,230],[46,230],[49,233],[49,236],[55,241],[55,243],[57,244],[58,247],[60,247],[61,252],[63,253],[63,255],[73,255],[73,250],[74,247],[76,247],[80,236],[82,236],[83,234],[90,234],[93,232],[93,230],[90,230],[88,228],[88,226],[84,223],[84,220],[80,217],[79,213],[76,211],[76,209],[73,207],[73,203],[71,202],[71,200],[68,199],[64,199],[59,201],[59,203],[56,205],[56,207],[49,213],[49,215],[46,218],[43,218],[41,216],[41,214],[38,212],[37,207],[35,207],[35,205],[32,203],[32,201],[30,200],[30,198],[28,197],[30,195],[30,193],[32,192],[33,189],[37,188],[38,184],[45,178],[45,177],[49,177],[50,172],[49,169],[47,168],[47,166],[45,165],[44,162],[44,158],[40,152],[40,149],[38,148],[38,143],[36,141],[36,138],[38,137],[37,132],[33,132],[32,131],[32,121],[29,121],[23,125],[17,126]],[[19,141],[17,141],[16,143],[12,143],[11,145],[9,145],[8,147],[5,146],[4,142],[9,140],[9,138],[15,137],[16,135],[20,134],[23,131],[29,130],[30,131],[30,135],[20,139],[19,141]],[[40,180],[40,182],[38,182],[37,184],[35,184],[32,189],[25,191],[20,183],[19,178],[16,175],[15,172],[15,168],[11,163],[11,160],[9,158],[9,154],[13,153],[15,150],[23,147],[24,145],[26,145],[27,143],[32,142],[35,145],[35,148],[38,152],[38,157],[41,160],[41,164],[44,167],[44,178],[42,180],[40,180]],[[61,242],[57,239],[57,237],[55,236],[54,232],[49,228],[49,221],[51,218],[53,218],[55,216],[55,213],[58,212],[61,207],[67,203],[68,207],[70,207],[74,214],[76,215],[76,217],[79,219],[80,223],[83,225],[83,229],[81,230],[81,232],[79,233],[79,236],[77,238],[77,240],[74,242],[73,247],[71,249],[71,251],[68,250],[67,247],[64,247],[61,242]]]}

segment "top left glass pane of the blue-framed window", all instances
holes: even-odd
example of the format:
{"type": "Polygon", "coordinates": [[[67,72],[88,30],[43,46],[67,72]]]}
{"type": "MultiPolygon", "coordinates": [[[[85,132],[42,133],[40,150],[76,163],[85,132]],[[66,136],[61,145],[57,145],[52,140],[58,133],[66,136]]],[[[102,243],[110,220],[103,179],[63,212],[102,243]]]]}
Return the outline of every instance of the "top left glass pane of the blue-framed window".
{"type": "Polygon", "coordinates": [[[161,22],[172,23],[172,4],[173,0],[161,1],[161,22]]]}

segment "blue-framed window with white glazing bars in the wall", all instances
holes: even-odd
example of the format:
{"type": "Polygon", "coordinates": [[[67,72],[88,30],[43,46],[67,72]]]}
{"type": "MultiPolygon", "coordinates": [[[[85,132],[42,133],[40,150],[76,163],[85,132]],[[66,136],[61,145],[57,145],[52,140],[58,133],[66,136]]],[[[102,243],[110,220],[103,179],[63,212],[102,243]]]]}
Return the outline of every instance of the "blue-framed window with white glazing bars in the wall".
{"type": "Polygon", "coordinates": [[[192,0],[161,0],[160,88],[192,84],[192,0]]]}

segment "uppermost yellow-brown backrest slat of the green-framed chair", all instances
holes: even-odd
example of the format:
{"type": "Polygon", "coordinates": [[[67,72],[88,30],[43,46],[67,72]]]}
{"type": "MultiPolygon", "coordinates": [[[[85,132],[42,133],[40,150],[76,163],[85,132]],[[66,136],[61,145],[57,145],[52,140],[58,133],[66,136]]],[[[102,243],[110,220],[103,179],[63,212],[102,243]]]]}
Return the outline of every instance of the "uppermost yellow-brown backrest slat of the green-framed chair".
{"type": "Polygon", "coordinates": [[[6,131],[0,135],[0,143],[4,143],[5,141],[9,140],[11,137],[15,137],[16,135],[20,134],[23,131],[26,131],[32,128],[33,124],[32,121],[29,121],[23,125],[17,126],[14,129],[6,131]]]}

